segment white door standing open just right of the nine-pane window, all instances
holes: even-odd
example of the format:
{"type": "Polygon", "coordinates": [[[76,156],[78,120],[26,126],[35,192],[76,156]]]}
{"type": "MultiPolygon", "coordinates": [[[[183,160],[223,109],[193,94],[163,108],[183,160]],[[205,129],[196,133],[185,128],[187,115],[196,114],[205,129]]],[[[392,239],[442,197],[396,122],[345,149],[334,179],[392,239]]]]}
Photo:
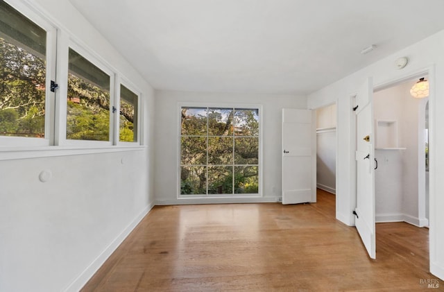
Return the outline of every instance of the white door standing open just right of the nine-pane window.
{"type": "Polygon", "coordinates": [[[311,110],[282,109],[282,204],[316,202],[314,132],[311,110]]]}

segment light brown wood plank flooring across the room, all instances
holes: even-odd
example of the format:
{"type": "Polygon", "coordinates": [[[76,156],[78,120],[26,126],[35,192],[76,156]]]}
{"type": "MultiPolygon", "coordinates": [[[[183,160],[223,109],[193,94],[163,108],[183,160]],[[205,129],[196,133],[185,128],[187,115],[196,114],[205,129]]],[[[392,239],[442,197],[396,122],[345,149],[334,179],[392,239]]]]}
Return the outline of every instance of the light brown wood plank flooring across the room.
{"type": "Polygon", "coordinates": [[[377,224],[372,260],[334,209],[321,190],[306,205],[157,206],[82,291],[423,291],[436,279],[427,229],[377,224]]]}

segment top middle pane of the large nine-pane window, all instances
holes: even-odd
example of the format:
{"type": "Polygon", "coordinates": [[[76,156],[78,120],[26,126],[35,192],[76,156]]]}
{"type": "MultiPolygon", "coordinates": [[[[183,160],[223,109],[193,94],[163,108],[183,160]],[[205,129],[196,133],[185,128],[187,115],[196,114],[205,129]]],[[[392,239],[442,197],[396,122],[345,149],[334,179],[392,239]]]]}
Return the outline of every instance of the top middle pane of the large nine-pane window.
{"type": "Polygon", "coordinates": [[[208,109],[208,135],[232,135],[233,110],[232,108],[208,109]]]}

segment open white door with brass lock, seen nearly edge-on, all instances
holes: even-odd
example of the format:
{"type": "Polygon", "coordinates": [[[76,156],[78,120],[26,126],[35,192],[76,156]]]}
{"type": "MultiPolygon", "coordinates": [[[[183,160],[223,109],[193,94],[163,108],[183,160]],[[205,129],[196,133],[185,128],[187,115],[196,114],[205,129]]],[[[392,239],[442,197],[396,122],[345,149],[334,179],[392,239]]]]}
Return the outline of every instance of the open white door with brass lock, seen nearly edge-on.
{"type": "Polygon", "coordinates": [[[375,241],[375,136],[373,135],[373,84],[371,78],[355,98],[357,202],[355,224],[368,255],[376,258],[375,241]]]}

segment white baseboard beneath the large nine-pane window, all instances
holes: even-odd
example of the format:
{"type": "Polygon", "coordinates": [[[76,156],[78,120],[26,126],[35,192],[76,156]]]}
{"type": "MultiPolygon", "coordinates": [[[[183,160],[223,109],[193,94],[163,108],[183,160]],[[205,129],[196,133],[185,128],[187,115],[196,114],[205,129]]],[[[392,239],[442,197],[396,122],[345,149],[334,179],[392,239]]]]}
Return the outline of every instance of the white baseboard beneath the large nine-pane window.
{"type": "Polygon", "coordinates": [[[241,204],[241,203],[277,203],[278,196],[271,197],[237,197],[237,198],[176,198],[156,200],[155,205],[201,205],[201,204],[241,204]]]}

